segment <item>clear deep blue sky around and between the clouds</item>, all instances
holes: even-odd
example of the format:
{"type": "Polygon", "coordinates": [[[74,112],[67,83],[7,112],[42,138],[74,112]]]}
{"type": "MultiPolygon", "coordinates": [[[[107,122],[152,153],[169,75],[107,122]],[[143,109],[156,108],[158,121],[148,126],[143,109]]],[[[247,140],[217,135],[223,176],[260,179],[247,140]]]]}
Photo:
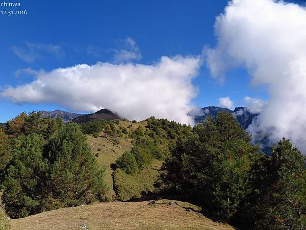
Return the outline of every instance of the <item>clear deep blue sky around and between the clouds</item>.
{"type": "MultiPolygon", "coordinates": [[[[300,1],[297,1],[300,2],[300,1]]],[[[199,55],[214,47],[215,17],[223,12],[225,0],[194,1],[20,1],[27,15],[0,15],[0,89],[30,83],[33,75],[18,70],[52,71],[75,64],[113,62],[115,50],[127,37],[136,42],[142,58],[151,64],[161,56],[199,55]]],[[[10,8],[1,7],[1,10],[10,8]]],[[[15,9],[10,9],[15,10],[15,9]]],[[[217,105],[230,97],[234,106],[244,105],[246,96],[268,98],[264,87],[250,86],[243,68],[226,73],[223,84],[202,65],[193,84],[198,107],[217,105]]],[[[77,93],[77,92],[76,92],[77,93]]],[[[0,122],[22,111],[65,109],[55,103],[15,104],[0,99],[0,122]]]]}

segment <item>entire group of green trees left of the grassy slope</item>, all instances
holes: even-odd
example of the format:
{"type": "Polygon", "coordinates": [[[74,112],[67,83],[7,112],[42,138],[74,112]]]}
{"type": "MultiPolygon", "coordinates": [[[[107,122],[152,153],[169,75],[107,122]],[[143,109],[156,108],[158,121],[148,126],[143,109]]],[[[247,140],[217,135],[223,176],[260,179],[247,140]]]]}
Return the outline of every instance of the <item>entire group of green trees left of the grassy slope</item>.
{"type": "Polygon", "coordinates": [[[77,124],[21,113],[0,129],[0,157],[0,189],[11,218],[103,200],[104,169],[77,124]]]}

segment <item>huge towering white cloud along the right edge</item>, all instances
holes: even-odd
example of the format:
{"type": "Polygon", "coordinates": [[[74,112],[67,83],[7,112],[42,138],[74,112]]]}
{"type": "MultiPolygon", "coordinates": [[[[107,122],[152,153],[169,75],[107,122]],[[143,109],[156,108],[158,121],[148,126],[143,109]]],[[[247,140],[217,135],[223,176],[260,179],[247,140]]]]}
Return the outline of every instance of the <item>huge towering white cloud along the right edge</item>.
{"type": "Polygon", "coordinates": [[[217,45],[207,63],[216,78],[244,66],[253,84],[267,84],[269,101],[253,132],[283,136],[306,151],[306,9],[272,0],[233,0],[216,18],[217,45]]]}

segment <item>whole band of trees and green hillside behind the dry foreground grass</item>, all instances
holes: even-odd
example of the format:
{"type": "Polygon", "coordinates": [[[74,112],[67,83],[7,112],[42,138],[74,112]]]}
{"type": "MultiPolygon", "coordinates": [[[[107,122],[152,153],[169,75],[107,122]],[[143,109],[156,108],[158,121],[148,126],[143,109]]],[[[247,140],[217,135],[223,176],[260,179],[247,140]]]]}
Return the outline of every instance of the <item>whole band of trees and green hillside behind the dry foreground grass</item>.
{"type": "Polygon", "coordinates": [[[283,139],[263,154],[230,113],[193,128],[154,117],[64,124],[40,115],[21,113],[0,128],[0,186],[11,218],[157,194],[192,201],[239,229],[304,229],[302,153],[283,139]],[[89,140],[118,152],[98,154],[89,140]]]}

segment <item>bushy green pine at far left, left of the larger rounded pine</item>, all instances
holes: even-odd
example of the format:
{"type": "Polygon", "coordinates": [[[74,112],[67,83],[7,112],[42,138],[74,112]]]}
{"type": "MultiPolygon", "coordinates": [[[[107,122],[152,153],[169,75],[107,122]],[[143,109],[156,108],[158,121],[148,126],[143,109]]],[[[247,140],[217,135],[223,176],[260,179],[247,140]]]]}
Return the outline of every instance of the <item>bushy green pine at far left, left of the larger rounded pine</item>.
{"type": "Polygon", "coordinates": [[[25,217],[40,211],[46,161],[42,157],[44,141],[36,133],[14,140],[13,157],[4,171],[3,201],[9,216],[25,217]]]}

